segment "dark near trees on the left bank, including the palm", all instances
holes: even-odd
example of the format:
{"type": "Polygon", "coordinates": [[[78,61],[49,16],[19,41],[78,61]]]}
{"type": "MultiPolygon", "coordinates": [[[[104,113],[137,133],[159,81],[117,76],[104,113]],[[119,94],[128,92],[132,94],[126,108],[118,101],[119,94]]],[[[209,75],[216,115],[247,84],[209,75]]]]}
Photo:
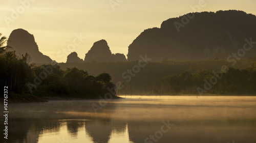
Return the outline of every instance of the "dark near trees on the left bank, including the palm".
{"type": "MultiPolygon", "coordinates": [[[[3,39],[7,38],[2,38],[2,45],[3,39]]],[[[57,63],[35,66],[28,64],[28,54],[18,56],[15,51],[5,52],[5,49],[1,47],[0,85],[8,86],[9,94],[98,98],[115,89],[108,73],[92,76],[75,67],[61,70],[57,63]]],[[[115,92],[111,94],[115,96],[115,92]]]]}

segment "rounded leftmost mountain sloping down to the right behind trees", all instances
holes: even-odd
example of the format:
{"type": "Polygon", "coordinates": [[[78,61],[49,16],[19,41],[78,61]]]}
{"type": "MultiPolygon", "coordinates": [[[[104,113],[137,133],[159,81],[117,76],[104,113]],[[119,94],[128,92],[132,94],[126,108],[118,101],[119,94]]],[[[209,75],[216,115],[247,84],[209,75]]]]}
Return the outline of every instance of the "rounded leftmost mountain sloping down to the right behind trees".
{"type": "Polygon", "coordinates": [[[23,29],[17,29],[12,31],[9,36],[8,46],[15,50],[18,56],[25,54],[26,52],[30,55],[30,63],[51,63],[52,60],[49,56],[42,54],[35,42],[35,38],[28,31],[23,29]]]}

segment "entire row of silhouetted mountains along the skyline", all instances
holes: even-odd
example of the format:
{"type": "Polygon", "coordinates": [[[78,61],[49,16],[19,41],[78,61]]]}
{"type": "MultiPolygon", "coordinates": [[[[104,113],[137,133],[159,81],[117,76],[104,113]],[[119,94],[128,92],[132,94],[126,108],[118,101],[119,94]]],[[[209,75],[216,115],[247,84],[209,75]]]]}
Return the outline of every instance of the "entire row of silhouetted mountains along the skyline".
{"type": "MultiPolygon", "coordinates": [[[[129,46],[127,60],[124,54],[112,53],[108,43],[100,40],[86,53],[84,61],[73,52],[67,63],[137,61],[145,54],[151,62],[227,59],[243,48],[245,39],[256,41],[255,25],[256,16],[243,11],[188,13],[142,32],[129,46]]],[[[34,36],[23,29],[14,30],[7,45],[18,55],[27,52],[33,63],[52,61],[39,51],[34,36]]],[[[246,51],[244,58],[255,56],[255,47],[246,51]]]]}

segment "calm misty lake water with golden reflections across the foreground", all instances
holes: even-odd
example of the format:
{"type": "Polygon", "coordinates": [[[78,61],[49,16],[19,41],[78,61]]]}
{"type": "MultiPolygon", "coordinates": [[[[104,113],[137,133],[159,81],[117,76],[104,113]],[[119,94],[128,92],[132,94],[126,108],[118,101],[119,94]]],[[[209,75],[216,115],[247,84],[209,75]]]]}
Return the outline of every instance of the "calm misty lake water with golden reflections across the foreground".
{"type": "Polygon", "coordinates": [[[252,96],[126,96],[97,113],[92,105],[99,102],[9,104],[8,139],[0,142],[256,142],[252,96]]]}

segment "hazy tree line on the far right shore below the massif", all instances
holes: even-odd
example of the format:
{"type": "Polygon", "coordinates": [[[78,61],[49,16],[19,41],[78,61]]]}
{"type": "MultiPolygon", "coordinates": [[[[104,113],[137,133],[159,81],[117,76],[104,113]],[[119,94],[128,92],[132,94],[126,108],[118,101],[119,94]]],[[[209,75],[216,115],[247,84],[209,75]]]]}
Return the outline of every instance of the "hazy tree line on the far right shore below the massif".
{"type": "Polygon", "coordinates": [[[161,94],[255,94],[256,63],[227,72],[182,72],[161,79],[161,94]]]}

